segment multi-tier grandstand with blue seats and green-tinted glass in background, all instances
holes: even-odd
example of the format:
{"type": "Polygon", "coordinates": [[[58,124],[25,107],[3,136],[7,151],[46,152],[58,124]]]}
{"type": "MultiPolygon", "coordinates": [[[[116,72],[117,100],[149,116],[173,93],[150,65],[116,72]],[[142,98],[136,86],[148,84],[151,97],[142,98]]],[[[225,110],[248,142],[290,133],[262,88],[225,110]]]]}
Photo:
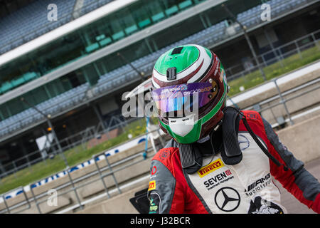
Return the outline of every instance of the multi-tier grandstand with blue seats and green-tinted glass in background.
{"type": "MultiPolygon", "coordinates": [[[[92,125],[112,127],[122,93],[139,84],[141,72],[149,78],[169,48],[207,46],[230,79],[254,66],[242,28],[221,4],[246,26],[258,55],[300,37],[306,38],[299,45],[319,41],[319,0],[0,0],[0,172],[38,150],[47,120],[36,109],[50,115],[60,140],[92,125]],[[57,21],[47,19],[52,3],[57,21]],[[260,17],[264,3],[271,6],[271,21],[260,17]]],[[[290,50],[259,60],[267,66],[290,50]]]]}

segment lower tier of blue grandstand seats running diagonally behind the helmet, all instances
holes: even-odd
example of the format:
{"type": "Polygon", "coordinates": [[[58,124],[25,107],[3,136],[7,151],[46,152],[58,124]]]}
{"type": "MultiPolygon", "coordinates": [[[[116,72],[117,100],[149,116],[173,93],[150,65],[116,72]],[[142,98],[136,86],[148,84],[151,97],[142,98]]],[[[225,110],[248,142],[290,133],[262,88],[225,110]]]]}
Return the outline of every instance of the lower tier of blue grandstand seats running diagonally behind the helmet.
{"type": "MultiPolygon", "coordinates": [[[[275,11],[272,10],[272,12],[274,12],[272,16],[277,16],[279,14],[282,14],[284,11],[287,11],[288,9],[293,9],[300,4],[305,3],[306,1],[307,0],[271,0],[267,1],[267,3],[270,4],[272,9],[277,9],[275,11]]],[[[262,23],[260,19],[260,7],[261,6],[256,6],[252,9],[242,12],[241,14],[238,14],[238,20],[248,28],[262,23]]],[[[133,61],[132,65],[138,68],[139,71],[144,71],[144,73],[151,73],[156,59],[161,53],[164,53],[164,51],[167,51],[174,46],[179,46],[187,43],[197,43],[202,46],[212,45],[214,43],[222,41],[225,36],[227,36],[225,35],[225,28],[227,28],[227,26],[228,24],[226,23],[226,21],[220,21],[220,23],[210,26],[203,31],[183,38],[181,41],[171,43],[171,45],[161,48],[160,50],[151,53],[148,56],[139,58],[136,61],[133,61]]],[[[107,91],[114,88],[119,88],[120,86],[124,85],[124,83],[133,81],[134,78],[138,77],[138,73],[134,71],[129,64],[127,64],[115,69],[114,71],[106,73],[103,76],[100,76],[97,85],[92,88],[92,92],[94,95],[106,93],[107,91]]],[[[85,83],[82,86],[73,88],[65,93],[51,98],[50,100],[46,100],[43,103],[38,104],[37,108],[43,110],[43,112],[46,114],[58,114],[61,111],[72,108],[74,105],[80,103],[81,100],[85,98],[85,92],[88,89],[90,89],[90,86],[88,83],[85,83]]],[[[10,118],[7,118],[6,120],[1,121],[0,137],[7,135],[15,130],[21,129],[24,126],[30,125],[30,123],[36,123],[36,121],[42,119],[43,116],[40,113],[37,113],[33,108],[29,108],[22,113],[18,113],[14,116],[11,116],[10,118]]]]}

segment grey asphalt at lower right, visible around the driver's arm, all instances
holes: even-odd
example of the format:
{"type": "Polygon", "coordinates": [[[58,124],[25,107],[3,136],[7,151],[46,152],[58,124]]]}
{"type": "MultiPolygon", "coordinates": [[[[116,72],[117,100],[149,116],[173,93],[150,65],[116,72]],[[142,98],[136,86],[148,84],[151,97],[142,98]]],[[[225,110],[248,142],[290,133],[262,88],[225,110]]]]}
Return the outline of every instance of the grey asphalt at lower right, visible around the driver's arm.
{"type": "MultiPolygon", "coordinates": [[[[311,173],[311,175],[314,175],[316,179],[320,180],[320,158],[305,163],[304,167],[311,173]]],[[[287,192],[279,182],[274,182],[281,192],[282,205],[287,209],[289,214],[316,214],[316,212],[306,207],[306,205],[299,202],[298,199],[287,192]]]]}

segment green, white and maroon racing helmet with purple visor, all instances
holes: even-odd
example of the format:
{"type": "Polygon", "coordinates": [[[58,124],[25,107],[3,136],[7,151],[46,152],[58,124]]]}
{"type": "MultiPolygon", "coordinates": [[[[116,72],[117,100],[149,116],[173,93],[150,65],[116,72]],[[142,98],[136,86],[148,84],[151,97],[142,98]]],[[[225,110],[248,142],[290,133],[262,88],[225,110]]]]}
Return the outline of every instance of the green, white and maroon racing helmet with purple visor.
{"type": "Polygon", "coordinates": [[[152,86],[159,126],[176,142],[205,138],[223,118],[227,79],[207,48],[191,44],[166,51],[155,63],[152,86]]]}

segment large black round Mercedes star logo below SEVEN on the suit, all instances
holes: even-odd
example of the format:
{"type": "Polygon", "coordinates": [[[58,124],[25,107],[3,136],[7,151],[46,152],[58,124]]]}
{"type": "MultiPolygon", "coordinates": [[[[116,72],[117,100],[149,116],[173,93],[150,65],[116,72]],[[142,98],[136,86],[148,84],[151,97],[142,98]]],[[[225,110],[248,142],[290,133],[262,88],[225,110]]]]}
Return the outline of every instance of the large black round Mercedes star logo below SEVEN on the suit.
{"type": "Polygon", "coordinates": [[[240,195],[232,187],[223,187],[215,193],[215,204],[223,212],[232,212],[240,205],[240,195]]]}

